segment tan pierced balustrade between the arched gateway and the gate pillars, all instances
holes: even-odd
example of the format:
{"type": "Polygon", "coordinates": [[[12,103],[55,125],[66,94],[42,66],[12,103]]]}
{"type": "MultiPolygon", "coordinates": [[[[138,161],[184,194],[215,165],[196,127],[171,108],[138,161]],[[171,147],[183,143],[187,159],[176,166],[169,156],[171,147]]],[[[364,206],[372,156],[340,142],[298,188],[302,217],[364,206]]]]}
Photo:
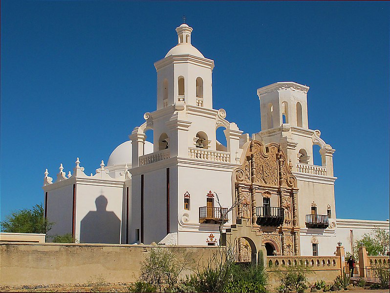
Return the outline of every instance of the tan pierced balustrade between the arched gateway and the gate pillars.
{"type": "Polygon", "coordinates": [[[306,266],[313,270],[340,270],[340,256],[267,256],[268,268],[306,266]]]}

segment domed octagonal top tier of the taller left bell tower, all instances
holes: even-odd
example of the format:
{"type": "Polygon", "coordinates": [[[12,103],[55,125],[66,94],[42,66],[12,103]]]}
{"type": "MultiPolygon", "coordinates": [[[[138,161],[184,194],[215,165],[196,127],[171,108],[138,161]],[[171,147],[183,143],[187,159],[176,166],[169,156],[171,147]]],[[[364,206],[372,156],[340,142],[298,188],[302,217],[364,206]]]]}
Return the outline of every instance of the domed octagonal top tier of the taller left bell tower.
{"type": "Polygon", "coordinates": [[[177,102],[213,109],[214,61],[205,58],[191,44],[192,31],[192,27],[185,23],[177,27],[177,45],[164,59],[154,63],[157,70],[157,110],[177,102]]]}

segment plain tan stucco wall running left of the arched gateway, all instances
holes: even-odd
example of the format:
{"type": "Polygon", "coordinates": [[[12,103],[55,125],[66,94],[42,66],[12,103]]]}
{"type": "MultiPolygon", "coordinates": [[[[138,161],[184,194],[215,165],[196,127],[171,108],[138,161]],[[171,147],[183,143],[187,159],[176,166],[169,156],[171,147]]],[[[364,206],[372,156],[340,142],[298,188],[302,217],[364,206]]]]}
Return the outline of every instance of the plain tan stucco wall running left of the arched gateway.
{"type": "MultiPolygon", "coordinates": [[[[216,247],[158,246],[177,256],[190,251],[207,260],[216,247]]],[[[0,285],[83,284],[102,275],[106,282],[135,282],[155,246],[114,244],[0,243],[0,285]]],[[[196,264],[195,264],[196,265],[196,264]]]]}

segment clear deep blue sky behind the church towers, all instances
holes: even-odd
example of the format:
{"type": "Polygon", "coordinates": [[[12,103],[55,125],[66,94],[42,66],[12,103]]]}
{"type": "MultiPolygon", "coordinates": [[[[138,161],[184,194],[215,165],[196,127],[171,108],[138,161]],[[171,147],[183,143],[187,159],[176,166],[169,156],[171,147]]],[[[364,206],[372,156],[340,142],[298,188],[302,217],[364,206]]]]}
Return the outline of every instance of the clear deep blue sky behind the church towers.
{"type": "Polygon", "coordinates": [[[153,63],[192,43],[215,61],[214,108],[260,131],[256,90],[310,87],[309,127],[336,152],[338,218],[389,218],[389,2],[1,1],[1,219],[86,174],[156,107],[153,63]]]}

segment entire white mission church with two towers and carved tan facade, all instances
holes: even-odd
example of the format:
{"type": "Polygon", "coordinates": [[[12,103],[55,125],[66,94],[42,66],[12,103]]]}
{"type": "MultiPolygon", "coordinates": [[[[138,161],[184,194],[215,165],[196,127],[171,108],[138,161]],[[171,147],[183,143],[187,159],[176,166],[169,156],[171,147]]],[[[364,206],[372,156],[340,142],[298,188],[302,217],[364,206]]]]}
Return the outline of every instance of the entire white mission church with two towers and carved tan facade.
{"type": "Polygon", "coordinates": [[[364,233],[388,221],[337,219],[334,149],[308,128],[307,92],[295,82],[260,88],[261,131],[243,134],[213,109],[214,61],[192,44],[192,28],[176,28],[178,44],[157,61],[157,110],[107,166],[86,175],[79,158],[73,174],[44,177],[49,235],[72,233],[80,243],[218,245],[238,239],[239,258],[333,255],[338,242],[351,251],[364,233]],[[227,146],[217,141],[224,128],[227,146]],[[153,131],[153,144],[145,132],[153,131]],[[313,164],[313,145],[322,165],[313,164]],[[229,210],[230,207],[233,209],[229,210]],[[222,224],[222,225],[221,225],[222,224]]]}

